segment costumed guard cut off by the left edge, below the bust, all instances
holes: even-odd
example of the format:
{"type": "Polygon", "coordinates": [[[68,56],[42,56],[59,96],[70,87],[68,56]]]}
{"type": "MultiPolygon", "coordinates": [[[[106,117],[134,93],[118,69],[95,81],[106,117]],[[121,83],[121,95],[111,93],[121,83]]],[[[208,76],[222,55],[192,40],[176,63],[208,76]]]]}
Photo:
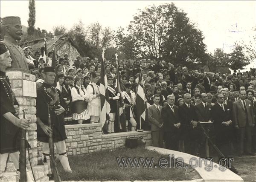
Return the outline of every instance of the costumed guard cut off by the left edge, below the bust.
{"type": "MultiPolygon", "coordinates": [[[[10,57],[10,52],[7,47],[1,43],[0,44],[0,103],[1,103],[1,176],[6,168],[6,161],[8,155],[12,158],[12,162],[15,168],[19,170],[19,150],[20,150],[20,139],[21,130],[29,129],[29,121],[26,119],[19,119],[19,104],[15,99],[15,95],[12,92],[10,81],[8,76],[6,76],[6,68],[11,67],[12,59],[10,57]]],[[[27,173],[27,181],[32,181],[27,173]]]]}

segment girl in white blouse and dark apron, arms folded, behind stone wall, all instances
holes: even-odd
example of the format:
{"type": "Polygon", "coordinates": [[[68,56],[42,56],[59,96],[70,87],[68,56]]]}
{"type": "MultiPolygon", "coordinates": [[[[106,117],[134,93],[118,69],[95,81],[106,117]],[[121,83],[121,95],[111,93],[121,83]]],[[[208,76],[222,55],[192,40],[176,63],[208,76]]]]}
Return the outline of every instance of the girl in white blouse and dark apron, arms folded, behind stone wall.
{"type": "Polygon", "coordinates": [[[78,121],[79,124],[83,123],[83,120],[90,119],[90,115],[87,111],[87,101],[89,101],[89,95],[87,91],[81,87],[81,77],[75,78],[75,87],[71,89],[72,96],[72,112],[73,120],[78,121]]]}

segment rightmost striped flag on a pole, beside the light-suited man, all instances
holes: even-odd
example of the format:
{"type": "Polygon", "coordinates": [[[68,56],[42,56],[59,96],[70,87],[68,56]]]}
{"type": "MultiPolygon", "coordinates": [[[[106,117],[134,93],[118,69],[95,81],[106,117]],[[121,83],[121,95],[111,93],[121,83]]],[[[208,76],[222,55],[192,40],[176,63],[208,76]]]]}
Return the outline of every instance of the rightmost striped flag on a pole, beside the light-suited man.
{"type": "MultiPolygon", "coordinates": [[[[145,122],[146,120],[146,110],[145,110],[145,93],[143,90],[143,84],[142,83],[143,76],[142,76],[142,69],[140,69],[140,78],[139,78],[139,85],[138,85],[138,91],[137,91],[137,97],[136,97],[136,109],[137,109],[137,115],[139,118],[141,118],[141,123],[145,122]]],[[[140,123],[140,129],[141,129],[141,123],[140,123]]]]}

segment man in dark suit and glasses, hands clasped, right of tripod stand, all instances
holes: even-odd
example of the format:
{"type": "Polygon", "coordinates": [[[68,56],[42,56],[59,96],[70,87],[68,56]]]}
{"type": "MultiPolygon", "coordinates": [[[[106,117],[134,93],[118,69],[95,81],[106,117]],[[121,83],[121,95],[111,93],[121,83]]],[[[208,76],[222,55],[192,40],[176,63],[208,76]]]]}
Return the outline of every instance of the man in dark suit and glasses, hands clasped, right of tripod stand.
{"type": "Polygon", "coordinates": [[[224,96],[221,93],[216,95],[217,102],[212,106],[212,121],[215,129],[216,145],[224,154],[230,154],[230,142],[233,136],[232,113],[224,102],[224,96]]]}

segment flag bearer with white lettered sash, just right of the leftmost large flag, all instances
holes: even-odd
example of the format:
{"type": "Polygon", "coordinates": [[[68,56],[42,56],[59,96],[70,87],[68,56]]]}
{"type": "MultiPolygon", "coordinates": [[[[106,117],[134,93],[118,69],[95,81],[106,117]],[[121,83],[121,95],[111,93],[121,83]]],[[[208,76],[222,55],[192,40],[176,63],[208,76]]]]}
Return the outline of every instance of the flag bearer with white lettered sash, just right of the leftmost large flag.
{"type": "Polygon", "coordinates": [[[109,113],[109,123],[108,123],[108,133],[115,133],[114,131],[114,122],[117,111],[116,100],[119,99],[120,94],[116,92],[116,88],[113,85],[113,77],[108,75],[108,96],[110,104],[110,113],[109,113]]]}

